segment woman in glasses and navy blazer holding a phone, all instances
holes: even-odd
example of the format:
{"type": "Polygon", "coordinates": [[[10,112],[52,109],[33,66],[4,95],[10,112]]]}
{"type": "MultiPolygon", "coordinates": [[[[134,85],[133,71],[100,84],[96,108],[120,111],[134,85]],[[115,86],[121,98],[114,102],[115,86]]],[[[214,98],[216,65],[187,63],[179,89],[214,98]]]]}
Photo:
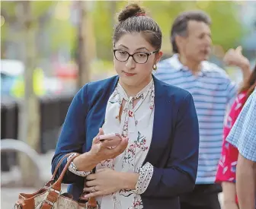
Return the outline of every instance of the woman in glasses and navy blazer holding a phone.
{"type": "Polygon", "coordinates": [[[101,209],[178,209],[178,196],[193,190],[197,176],[194,101],[152,75],[162,32],[139,5],[120,12],[113,44],[117,76],[85,84],[75,95],[53,171],[63,156],[77,153],[63,180],[75,200],[84,191],[83,198],[96,198],[101,209]]]}

